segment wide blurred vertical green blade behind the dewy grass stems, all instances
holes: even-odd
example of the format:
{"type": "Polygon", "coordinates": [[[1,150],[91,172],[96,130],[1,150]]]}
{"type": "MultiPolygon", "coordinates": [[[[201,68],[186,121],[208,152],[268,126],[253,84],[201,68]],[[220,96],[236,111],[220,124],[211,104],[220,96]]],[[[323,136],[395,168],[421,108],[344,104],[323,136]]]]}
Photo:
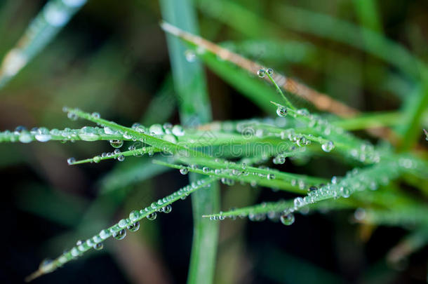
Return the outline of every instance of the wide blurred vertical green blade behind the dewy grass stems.
{"type": "MultiPolygon", "coordinates": [[[[161,0],[163,18],[187,30],[197,33],[196,12],[190,0],[161,0]]],[[[168,35],[168,50],[173,69],[175,90],[180,105],[180,121],[184,126],[194,126],[211,121],[210,103],[206,91],[206,82],[199,62],[188,62],[185,58],[185,46],[180,39],[168,35]]],[[[191,175],[195,181],[198,175],[191,175]]],[[[194,236],[190,257],[187,283],[213,282],[218,243],[218,224],[202,218],[206,212],[218,210],[220,191],[217,184],[209,191],[199,191],[192,196],[194,236]]]]}

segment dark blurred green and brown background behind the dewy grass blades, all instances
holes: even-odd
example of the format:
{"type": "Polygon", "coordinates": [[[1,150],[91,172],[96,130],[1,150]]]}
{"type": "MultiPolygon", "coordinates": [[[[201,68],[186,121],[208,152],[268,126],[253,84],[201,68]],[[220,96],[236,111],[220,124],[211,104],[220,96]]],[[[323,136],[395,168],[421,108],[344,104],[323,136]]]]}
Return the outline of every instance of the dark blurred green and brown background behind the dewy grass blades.
{"type": "MultiPolygon", "coordinates": [[[[411,83],[384,62],[356,48],[295,32],[305,18],[288,20],[287,25],[281,20],[285,15],[281,11],[300,7],[359,25],[354,1],[206,2],[195,1],[202,36],[225,42],[352,107],[398,109],[411,93],[411,83]]],[[[0,1],[1,56],[45,3],[0,1]]],[[[372,27],[427,59],[428,2],[376,4],[372,27]]],[[[98,111],[126,126],[135,121],[180,123],[159,20],[158,1],[88,1],[55,40],[0,90],[0,130],[84,126],[83,121],[67,119],[63,106],[98,111]]],[[[206,78],[215,120],[268,115],[208,69],[206,78]]],[[[70,156],[86,158],[103,151],[111,151],[107,142],[0,144],[1,283],[23,282],[41,259],[57,257],[80,238],[187,184],[186,176],[160,167],[150,169],[159,175],[146,179],[150,170],[145,158],[67,165],[70,156]]],[[[330,158],[281,167],[323,177],[342,175],[348,169],[349,165],[330,158]]],[[[290,196],[243,185],[223,187],[222,208],[290,196]]],[[[90,252],[34,283],[185,283],[192,243],[189,199],[175,203],[173,212],[154,222],[141,222],[140,230],[125,240],[107,241],[104,250],[90,252]]],[[[287,227],[269,221],[225,220],[215,283],[426,282],[427,248],[389,262],[388,252],[406,231],[354,224],[353,214],[298,215],[295,224],[287,227]]]]}

